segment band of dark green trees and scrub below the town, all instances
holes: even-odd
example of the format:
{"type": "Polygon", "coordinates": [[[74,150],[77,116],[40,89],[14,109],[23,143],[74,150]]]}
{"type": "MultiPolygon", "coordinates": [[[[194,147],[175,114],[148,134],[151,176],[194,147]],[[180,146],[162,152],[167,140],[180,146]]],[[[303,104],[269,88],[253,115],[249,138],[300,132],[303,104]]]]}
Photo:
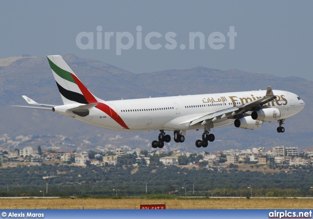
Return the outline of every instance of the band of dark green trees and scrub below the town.
{"type": "MultiPolygon", "coordinates": [[[[206,163],[203,163],[206,165],[206,163]]],[[[202,164],[201,164],[202,165],[202,164]]],[[[303,167],[304,168],[304,167],[303,167]]],[[[256,171],[238,171],[234,167],[227,172],[206,168],[187,169],[177,166],[129,165],[108,167],[79,167],[71,165],[38,165],[7,167],[0,169],[0,196],[42,196],[48,183],[45,196],[156,196],[167,195],[178,190],[171,197],[217,196],[249,197],[251,183],[252,196],[258,197],[307,197],[313,196],[310,189],[313,182],[313,169],[298,168],[291,173],[279,172],[263,174],[256,171]],[[43,178],[51,176],[48,178],[43,178]],[[146,183],[148,192],[146,193],[146,183]],[[193,193],[194,184],[194,193],[193,193]]]]}

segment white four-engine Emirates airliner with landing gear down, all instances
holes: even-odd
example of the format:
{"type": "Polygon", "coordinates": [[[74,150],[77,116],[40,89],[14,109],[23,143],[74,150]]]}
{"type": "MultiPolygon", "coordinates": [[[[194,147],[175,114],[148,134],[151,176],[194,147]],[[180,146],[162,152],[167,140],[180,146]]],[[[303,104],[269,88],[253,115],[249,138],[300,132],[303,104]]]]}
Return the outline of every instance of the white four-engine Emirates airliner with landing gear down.
{"type": "Polygon", "coordinates": [[[187,130],[204,130],[195,144],[206,148],[213,142],[212,128],[234,124],[237,128],[255,130],[263,122],[278,122],[277,132],[284,132],[285,119],[304,109],[296,94],[272,90],[213,93],[171,97],[104,101],[94,96],[59,55],[47,56],[64,105],[40,104],[22,96],[28,104],[15,106],[53,112],[79,121],[117,131],[159,130],[153,148],[163,148],[174,132],[174,141],[184,142],[187,130]]]}

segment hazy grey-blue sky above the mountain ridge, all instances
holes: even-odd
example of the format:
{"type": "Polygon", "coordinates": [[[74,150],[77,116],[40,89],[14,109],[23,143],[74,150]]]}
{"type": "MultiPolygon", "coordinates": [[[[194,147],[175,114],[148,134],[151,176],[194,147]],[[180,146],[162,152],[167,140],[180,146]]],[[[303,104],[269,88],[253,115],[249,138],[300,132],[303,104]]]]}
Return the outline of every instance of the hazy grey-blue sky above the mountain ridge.
{"type": "MultiPolygon", "coordinates": [[[[0,59],[22,54],[45,57],[72,53],[134,73],[205,66],[299,76],[312,81],[312,8],[313,1],[308,0],[1,1],[0,59]],[[97,26],[102,27],[102,49],[97,49],[97,26]],[[137,31],[137,26],[142,30],[137,31]],[[231,26],[237,34],[234,49],[230,49],[227,36],[231,26]],[[94,34],[93,49],[77,45],[81,32],[94,34]],[[110,49],[104,48],[105,32],[113,32],[110,49]],[[118,32],[134,37],[134,44],[121,50],[121,55],[116,52],[116,45],[120,45],[118,32]],[[141,49],[137,49],[137,32],[141,34],[141,49]],[[161,45],[159,49],[145,44],[145,37],[152,32],[161,35],[150,39],[151,44],[161,45]],[[177,43],[174,49],[165,47],[169,43],[165,39],[168,32],[176,34],[172,37],[177,43]],[[191,32],[202,33],[204,49],[200,49],[199,38],[195,48],[189,48],[191,32]],[[208,43],[214,32],[225,37],[222,43],[214,43],[224,45],[221,49],[213,49],[208,43]]],[[[120,42],[129,43],[126,37],[120,42]]],[[[81,38],[81,43],[89,43],[88,38],[81,38]]]]}

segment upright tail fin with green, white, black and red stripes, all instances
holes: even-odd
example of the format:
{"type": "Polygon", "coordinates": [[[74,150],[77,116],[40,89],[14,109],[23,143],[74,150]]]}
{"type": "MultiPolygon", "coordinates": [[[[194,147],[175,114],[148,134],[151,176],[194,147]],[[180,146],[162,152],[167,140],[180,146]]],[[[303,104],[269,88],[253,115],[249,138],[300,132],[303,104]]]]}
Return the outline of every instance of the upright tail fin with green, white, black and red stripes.
{"type": "Polygon", "coordinates": [[[47,56],[47,58],[65,105],[73,103],[90,104],[103,101],[86,88],[62,56],[53,55],[47,56]]]}

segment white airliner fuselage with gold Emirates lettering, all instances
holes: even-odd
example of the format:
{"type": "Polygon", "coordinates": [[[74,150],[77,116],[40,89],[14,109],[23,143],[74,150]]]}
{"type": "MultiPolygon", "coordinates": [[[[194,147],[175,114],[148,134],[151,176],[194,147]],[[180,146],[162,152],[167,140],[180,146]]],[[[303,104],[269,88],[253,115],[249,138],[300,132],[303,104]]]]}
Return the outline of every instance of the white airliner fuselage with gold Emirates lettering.
{"type": "MultiPolygon", "coordinates": [[[[118,131],[195,130],[203,129],[204,125],[198,123],[190,126],[188,121],[259,99],[264,96],[265,92],[266,90],[253,90],[103,102],[118,114],[129,129],[125,129],[113,119],[117,116],[116,113],[107,114],[97,108],[92,108],[86,117],[73,113],[67,115],[95,126],[118,131]]],[[[297,114],[305,106],[303,100],[294,93],[282,90],[273,90],[273,92],[277,97],[276,100],[265,106],[279,109],[280,119],[297,114]]],[[[228,118],[213,122],[214,128],[233,123],[234,119],[228,118]]]]}

